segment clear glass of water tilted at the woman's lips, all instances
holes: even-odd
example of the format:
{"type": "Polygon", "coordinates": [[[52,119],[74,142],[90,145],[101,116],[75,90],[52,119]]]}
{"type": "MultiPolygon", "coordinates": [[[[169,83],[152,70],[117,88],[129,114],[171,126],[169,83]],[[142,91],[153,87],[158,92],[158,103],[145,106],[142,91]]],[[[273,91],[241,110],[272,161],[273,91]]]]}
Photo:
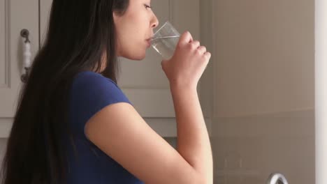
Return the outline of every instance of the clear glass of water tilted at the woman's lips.
{"type": "Polygon", "coordinates": [[[170,59],[174,52],[180,33],[173,27],[170,22],[165,22],[151,40],[152,47],[162,56],[163,59],[170,59]]]}

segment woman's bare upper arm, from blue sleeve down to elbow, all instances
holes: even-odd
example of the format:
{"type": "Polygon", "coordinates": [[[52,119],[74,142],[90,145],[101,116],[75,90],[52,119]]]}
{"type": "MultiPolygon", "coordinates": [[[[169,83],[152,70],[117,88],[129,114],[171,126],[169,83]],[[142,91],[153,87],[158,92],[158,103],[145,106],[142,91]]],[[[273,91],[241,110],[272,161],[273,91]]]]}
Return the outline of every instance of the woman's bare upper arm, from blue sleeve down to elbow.
{"type": "Polygon", "coordinates": [[[103,152],[147,184],[206,184],[201,173],[127,103],[103,108],[89,119],[85,133],[103,152]]]}

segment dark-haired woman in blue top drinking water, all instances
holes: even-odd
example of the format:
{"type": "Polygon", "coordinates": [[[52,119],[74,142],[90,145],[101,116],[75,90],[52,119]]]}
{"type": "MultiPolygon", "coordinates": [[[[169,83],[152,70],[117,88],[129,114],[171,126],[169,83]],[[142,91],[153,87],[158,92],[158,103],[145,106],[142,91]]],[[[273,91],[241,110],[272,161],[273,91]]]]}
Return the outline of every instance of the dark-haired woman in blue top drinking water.
{"type": "Polygon", "coordinates": [[[150,0],[54,0],[48,34],[22,89],[3,183],[212,183],[196,86],[210,53],[182,34],[162,61],[177,150],[116,84],[117,56],[141,60],[158,25],[150,0]]]}

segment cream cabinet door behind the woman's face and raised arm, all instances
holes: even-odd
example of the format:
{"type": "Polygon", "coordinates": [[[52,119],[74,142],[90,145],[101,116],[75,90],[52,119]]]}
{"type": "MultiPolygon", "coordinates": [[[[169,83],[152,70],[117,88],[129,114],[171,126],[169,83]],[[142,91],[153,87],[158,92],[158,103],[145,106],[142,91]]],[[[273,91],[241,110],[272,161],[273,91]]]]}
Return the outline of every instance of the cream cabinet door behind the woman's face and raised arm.
{"type": "MultiPolygon", "coordinates": [[[[52,0],[40,2],[41,40],[48,26],[51,2],[52,0]]],[[[160,22],[157,29],[168,20],[180,33],[188,30],[194,38],[199,38],[199,0],[152,0],[151,5],[160,22]]],[[[118,84],[141,116],[175,117],[168,79],[161,69],[161,56],[154,49],[148,49],[143,61],[121,58],[120,66],[122,72],[118,84]]]]}

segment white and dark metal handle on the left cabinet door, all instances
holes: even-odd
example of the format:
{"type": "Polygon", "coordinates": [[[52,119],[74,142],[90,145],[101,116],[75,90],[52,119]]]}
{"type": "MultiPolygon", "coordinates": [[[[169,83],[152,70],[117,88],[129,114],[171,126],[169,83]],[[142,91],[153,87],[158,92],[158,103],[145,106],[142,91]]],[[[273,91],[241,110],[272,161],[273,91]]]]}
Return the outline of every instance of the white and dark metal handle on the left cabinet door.
{"type": "Polygon", "coordinates": [[[20,36],[25,38],[23,43],[23,66],[20,80],[26,83],[29,76],[29,69],[31,67],[31,41],[29,40],[29,30],[22,29],[22,31],[20,31],[20,36]]]}

